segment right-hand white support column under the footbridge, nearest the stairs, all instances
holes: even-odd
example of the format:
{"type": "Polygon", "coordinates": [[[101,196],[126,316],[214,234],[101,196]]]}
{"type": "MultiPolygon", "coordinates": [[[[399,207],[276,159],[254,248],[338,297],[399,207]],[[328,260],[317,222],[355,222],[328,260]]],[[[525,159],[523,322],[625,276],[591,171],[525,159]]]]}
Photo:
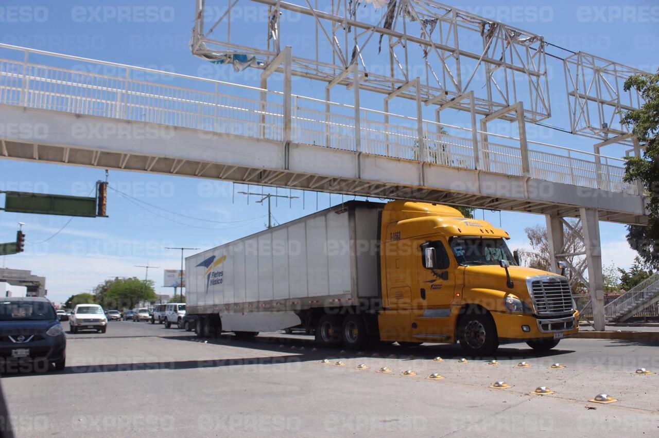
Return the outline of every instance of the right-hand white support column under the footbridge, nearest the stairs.
{"type": "Polygon", "coordinates": [[[588,262],[588,291],[592,306],[592,319],[596,330],[604,330],[604,278],[602,277],[602,247],[600,224],[595,208],[580,208],[583,240],[588,262]]]}

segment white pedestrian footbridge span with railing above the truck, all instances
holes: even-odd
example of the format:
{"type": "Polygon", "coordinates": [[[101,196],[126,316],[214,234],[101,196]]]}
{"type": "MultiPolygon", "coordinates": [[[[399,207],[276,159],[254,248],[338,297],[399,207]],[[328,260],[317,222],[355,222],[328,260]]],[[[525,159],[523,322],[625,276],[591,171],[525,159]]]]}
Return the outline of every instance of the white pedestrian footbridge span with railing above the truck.
{"type": "Polygon", "coordinates": [[[646,222],[618,158],[24,47],[0,54],[5,158],[646,222]]]}

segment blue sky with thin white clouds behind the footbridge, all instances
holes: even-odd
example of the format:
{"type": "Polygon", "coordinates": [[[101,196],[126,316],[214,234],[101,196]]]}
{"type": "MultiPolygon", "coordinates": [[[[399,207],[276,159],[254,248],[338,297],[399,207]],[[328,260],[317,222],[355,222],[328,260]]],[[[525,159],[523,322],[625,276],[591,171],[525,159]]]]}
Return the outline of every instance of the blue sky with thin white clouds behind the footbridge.
{"type": "MultiPolygon", "coordinates": [[[[253,74],[235,74],[229,67],[209,66],[190,55],[188,40],[194,3],[193,0],[170,1],[163,7],[159,1],[80,3],[63,0],[56,5],[30,0],[3,1],[0,5],[0,42],[254,84],[251,80],[253,74]],[[110,9],[97,16],[98,10],[94,8],[101,5],[110,9]],[[141,12],[135,9],[132,9],[131,16],[137,17],[136,20],[113,18],[112,7],[126,5],[156,7],[154,22],[140,18],[141,12]]],[[[216,1],[214,4],[220,3],[216,1]]],[[[241,0],[241,3],[250,2],[241,0]]],[[[656,57],[659,53],[659,7],[654,1],[629,1],[625,5],[605,7],[600,2],[583,0],[551,3],[502,1],[492,7],[482,0],[463,0],[455,6],[540,34],[546,41],[573,51],[586,51],[648,71],[656,71],[659,64],[656,57]]],[[[259,26],[259,35],[262,34],[262,23],[256,26],[259,26]]],[[[250,26],[244,26],[243,32],[244,38],[254,37],[250,26]]],[[[548,49],[548,52],[565,55],[558,49],[548,49]]],[[[2,53],[4,57],[7,52],[2,53]]],[[[556,62],[552,65],[553,68],[560,67],[556,62]]],[[[548,123],[567,128],[563,74],[561,70],[554,72],[559,74],[550,75],[552,118],[548,123]]],[[[308,80],[296,80],[293,92],[308,94],[314,89],[322,87],[308,80]]],[[[337,91],[334,99],[340,100],[341,96],[341,91],[337,91]]],[[[381,109],[379,102],[368,95],[362,97],[364,107],[381,109]]],[[[461,117],[455,114],[455,120],[461,120],[461,117]]],[[[451,123],[452,120],[448,117],[442,121],[451,123]]],[[[565,147],[591,151],[594,143],[592,139],[547,128],[528,129],[532,139],[565,147]]],[[[609,149],[605,153],[619,156],[621,151],[609,149]]],[[[0,169],[0,190],[84,196],[94,182],[105,178],[100,169],[7,160],[0,161],[0,169]]],[[[149,277],[158,285],[158,293],[171,293],[171,289],[160,287],[162,269],[178,268],[180,252],[164,247],[208,249],[262,230],[267,222],[266,207],[256,204],[256,199],[247,203],[244,196],[234,193],[244,191],[244,185],[236,185],[234,189],[226,182],[114,171],[110,172],[109,181],[112,187],[139,201],[131,202],[110,191],[109,218],[74,218],[55,237],[53,234],[69,218],[0,212],[0,236],[4,241],[13,239],[17,222],[26,223],[24,230],[28,239],[25,253],[6,256],[2,260],[3,266],[30,269],[34,274],[46,276],[48,294],[55,303],[74,293],[88,291],[110,276],[143,278],[144,269],[134,265],[147,262],[159,267],[149,272],[149,277]],[[186,216],[203,220],[171,212],[183,212],[186,216]]],[[[252,191],[261,190],[260,187],[251,188],[252,191]]],[[[266,188],[266,191],[274,193],[275,189],[266,188]]],[[[287,194],[288,191],[280,189],[278,193],[287,194]]],[[[298,191],[293,195],[302,197],[298,191]]],[[[285,222],[315,211],[316,205],[325,208],[340,201],[340,195],[332,195],[330,199],[327,194],[306,193],[304,201],[295,199],[291,206],[287,201],[279,201],[273,214],[277,222],[285,222]]],[[[525,227],[544,225],[544,216],[533,214],[476,212],[478,218],[483,215],[496,226],[501,220],[501,226],[511,234],[510,246],[513,248],[527,244],[525,227]]],[[[635,253],[624,239],[625,228],[607,223],[600,226],[605,264],[629,266],[635,253]]]]}

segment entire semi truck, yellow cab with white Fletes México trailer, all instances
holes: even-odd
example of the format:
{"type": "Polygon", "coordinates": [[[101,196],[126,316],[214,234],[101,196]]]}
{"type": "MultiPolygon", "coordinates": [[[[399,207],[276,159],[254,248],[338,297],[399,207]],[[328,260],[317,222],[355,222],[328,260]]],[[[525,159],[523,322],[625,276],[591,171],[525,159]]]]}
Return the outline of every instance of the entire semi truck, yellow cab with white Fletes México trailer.
{"type": "Polygon", "coordinates": [[[569,282],[519,266],[509,238],[444,205],[351,201],[188,257],[188,314],[207,337],[301,326],[348,349],[551,349],[578,330],[569,282]]]}

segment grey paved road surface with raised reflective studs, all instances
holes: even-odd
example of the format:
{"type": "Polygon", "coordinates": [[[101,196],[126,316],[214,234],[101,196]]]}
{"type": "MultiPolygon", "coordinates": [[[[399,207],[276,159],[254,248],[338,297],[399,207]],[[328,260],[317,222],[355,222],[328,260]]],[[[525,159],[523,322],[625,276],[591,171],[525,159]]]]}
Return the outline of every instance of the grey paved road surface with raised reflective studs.
{"type": "Polygon", "coordinates": [[[659,371],[657,343],[564,339],[544,356],[508,345],[488,365],[459,363],[453,345],[345,353],[279,333],[204,343],[146,322],[67,336],[65,371],[0,381],[19,437],[659,435],[659,375],[633,374],[659,371]],[[511,387],[490,388],[500,380],[511,387]],[[531,395],[539,386],[556,392],[531,395]],[[598,393],[619,401],[588,402],[598,393]]]}

